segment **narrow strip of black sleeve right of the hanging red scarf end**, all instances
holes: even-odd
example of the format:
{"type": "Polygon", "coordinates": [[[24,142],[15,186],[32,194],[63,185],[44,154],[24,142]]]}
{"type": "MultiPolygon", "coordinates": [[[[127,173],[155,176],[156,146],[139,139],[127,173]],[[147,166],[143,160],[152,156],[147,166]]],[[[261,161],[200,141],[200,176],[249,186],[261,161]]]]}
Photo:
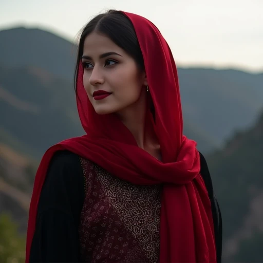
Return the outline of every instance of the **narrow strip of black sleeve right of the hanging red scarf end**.
{"type": "Polygon", "coordinates": [[[213,215],[213,223],[214,223],[214,233],[215,233],[215,241],[216,241],[216,255],[217,255],[217,263],[221,263],[222,257],[222,217],[221,211],[219,208],[218,201],[214,194],[213,183],[210,176],[208,164],[204,156],[199,152],[200,155],[200,164],[201,171],[200,174],[204,180],[206,189],[208,190],[209,198],[211,201],[212,215],[213,215]]]}

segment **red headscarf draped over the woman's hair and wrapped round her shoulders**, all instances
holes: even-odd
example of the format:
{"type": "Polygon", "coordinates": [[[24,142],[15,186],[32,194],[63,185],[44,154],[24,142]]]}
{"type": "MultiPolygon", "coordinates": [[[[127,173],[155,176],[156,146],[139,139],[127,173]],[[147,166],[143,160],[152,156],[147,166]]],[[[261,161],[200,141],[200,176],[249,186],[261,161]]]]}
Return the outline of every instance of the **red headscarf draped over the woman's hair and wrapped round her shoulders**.
{"type": "Polygon", "coordinates": [[[124,13],[134,25],[143,54],[162,162],[137,146],[135,138],[115,115],[97,115],[83,87],[79,67],[77,103],[86,135],[48,149],[37,170],[30,204],[26,262],[35,230],[37,203],[51,157],[67,149],[109,173],[134,184],[163,183],[160,262],[216,262],[211,203],[199,174],[196,143],[182,135],[182,110],[173,55],[159,30],[146,18],[124,13]]]}

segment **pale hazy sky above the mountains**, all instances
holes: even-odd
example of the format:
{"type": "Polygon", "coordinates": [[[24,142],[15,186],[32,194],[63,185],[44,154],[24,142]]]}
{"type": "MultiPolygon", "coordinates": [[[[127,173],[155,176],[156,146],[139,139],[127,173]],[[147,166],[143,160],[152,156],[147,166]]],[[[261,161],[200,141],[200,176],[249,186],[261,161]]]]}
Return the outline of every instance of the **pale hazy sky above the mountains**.
{"type": "Polygon", "coordinates": [[[263,0],[0,0],[0,30],[23,24],[74,40],[109,8],[151,20],[179,66],[263,71],[263,0]]]}

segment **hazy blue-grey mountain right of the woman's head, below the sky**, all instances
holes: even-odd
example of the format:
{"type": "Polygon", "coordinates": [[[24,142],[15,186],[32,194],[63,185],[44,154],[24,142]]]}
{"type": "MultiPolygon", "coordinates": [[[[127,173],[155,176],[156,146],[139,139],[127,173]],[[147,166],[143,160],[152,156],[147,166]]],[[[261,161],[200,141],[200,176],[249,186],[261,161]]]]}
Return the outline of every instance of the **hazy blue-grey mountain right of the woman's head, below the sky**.
{"type": "Polygon", "coordinates": [[[178,74],[184,118],[218,143],[252,125],[263,109],[263,74],[201,68],[178,74]]]}

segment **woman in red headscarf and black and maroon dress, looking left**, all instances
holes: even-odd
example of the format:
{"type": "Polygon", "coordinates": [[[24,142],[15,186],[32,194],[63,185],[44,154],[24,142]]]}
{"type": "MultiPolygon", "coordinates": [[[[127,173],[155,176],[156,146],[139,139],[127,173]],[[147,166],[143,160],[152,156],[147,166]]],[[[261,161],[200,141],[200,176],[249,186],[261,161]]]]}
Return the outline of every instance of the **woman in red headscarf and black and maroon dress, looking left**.
{"type": "Polygon", "coordinates": [[[86,135],[41,161],[27,262],[220,261],[219,209],[206,162],[182,135],[176,66],[159,30],[131,13],[96,16],[75,79],[86,135]]]}

